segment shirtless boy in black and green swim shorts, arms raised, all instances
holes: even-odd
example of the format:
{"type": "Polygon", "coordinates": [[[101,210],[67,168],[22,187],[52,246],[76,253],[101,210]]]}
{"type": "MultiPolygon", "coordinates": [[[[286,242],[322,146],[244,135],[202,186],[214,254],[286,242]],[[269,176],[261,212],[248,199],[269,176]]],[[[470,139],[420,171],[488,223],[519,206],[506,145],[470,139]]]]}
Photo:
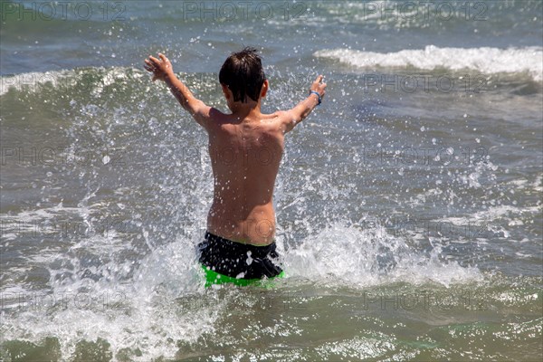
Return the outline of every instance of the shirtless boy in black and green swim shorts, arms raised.
{"type": "Polygon", "coordinates": [[[275,212],[273,187],[284,150],[284,136],[305,119],[324,97],[322,75],[309,96],[291,110],[261,112],[269,89],[255,49],[245,48],[226,59],[219,81],[231,113],[195,98],[174,74],[164,54],[149,56],[145,69],[153,81],[165,81],[181,106],[209,137],[214,175],[214,200],[207,215],[204,242],[198,245],[206,286],[233,282],[247,285],[281,275],[273,262],[275,212]]]}

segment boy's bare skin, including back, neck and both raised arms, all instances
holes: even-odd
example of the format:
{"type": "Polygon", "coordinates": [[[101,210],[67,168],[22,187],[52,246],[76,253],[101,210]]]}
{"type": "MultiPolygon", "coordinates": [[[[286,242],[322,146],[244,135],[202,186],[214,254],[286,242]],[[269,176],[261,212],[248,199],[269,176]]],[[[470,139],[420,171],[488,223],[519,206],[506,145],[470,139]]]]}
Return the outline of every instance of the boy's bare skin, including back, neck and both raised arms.
{"type": "MultiPolygon", "coordinates": [[[[166,56],[150,56],[146,69],[165,81],[183,108],[209,136],[214,173],[214,201],[207,216],[208,232],[237,243],[268,245],[275,236],[273,187],[284,150],[284,135],[305,119],[325,94],[319,76],[310,95],[291,110],[262,114],[269,83],[252,91],[257,97],[239,100],[225,84],[224,98],[231,114],[205,105],[179,81],[166,56]]],[[[259,60],[260,62],[260,60],[259,60]]],[[[262,73],[263,74],[263,73],[262,73]]]]}

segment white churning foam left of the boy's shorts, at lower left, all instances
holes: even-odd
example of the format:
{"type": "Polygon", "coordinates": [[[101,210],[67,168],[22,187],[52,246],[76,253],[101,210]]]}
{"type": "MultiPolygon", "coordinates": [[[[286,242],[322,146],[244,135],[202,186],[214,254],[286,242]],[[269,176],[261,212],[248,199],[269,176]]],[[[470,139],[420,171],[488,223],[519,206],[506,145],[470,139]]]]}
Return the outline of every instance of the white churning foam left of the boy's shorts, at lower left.
{"type": "MultiPolygon", "coordinates": [[[[110,240],[115,239],[110,237],[110,240]]],[[[82,240],[78,247],[103,243],[100,236],[82,240]]],[[[104,255],[109,253],[102,248],[104,255]]],[[[139,349],[144,357],[167,356],[175,345],[165,341],[195,341],[204,333],[212,333],[215,320],[224,311],[224,300],[203,293],[204,286],[195,263],[195,252],[189,240],[177,240],[157,248],[140,261],[130,281],[119,280],[119,271],[130,266],[130,260],[118,260],[90,268],[102,278],[81,276],[84,267],[74,248],[70,252],[43,255],[32,262],[71,265],[50,269],[50,291],[24,291],[11,288],[2,292],[4,307],[12,310],[2,331],[5,338],[39,341],[55,336],[62,341],[62,356],[71,356],[76,343],[84,338],[94,341],[105,338],[112,350],[139,349]],[[73,270],[73,269],[76,270],[73,270]],[[59,282],[59,278],[65,281],[59,282]],[[194,297],[194,298],[193,298],[194,297]],[[192,299],[191,299],[192,298],[192,299]],[[210,305],[211,308],[204,308],[210,305]]]]}

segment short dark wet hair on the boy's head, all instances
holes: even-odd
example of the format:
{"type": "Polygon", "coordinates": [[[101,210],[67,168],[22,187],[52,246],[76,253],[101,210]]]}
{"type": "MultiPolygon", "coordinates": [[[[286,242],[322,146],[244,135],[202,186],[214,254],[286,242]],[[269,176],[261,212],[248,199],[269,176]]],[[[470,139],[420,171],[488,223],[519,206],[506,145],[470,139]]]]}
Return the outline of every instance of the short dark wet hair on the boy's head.
{"type": "Polygon", "coordinates": [[[232,90],[233,101],[247,102],[247,97],[258,100],[262,84],[266,80],[262,61],[256,49],[245,47],[233,52],[219,71],[219,81],[232,90]]]}

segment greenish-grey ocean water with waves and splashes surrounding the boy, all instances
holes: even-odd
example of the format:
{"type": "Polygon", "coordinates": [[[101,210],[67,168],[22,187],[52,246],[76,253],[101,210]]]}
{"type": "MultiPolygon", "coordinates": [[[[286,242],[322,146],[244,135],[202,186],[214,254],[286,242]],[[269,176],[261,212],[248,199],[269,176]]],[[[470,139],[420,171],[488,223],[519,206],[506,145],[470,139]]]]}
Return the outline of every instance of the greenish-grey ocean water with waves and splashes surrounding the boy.
{"type": "Polygon", "coordinates": [[[0,2],[0,359],[538,361],[540,1],[0,2]],[[287,277],[205,289],[205,132],[143,70],[226,110],[319,74],[274,204],[287,277]]]}

